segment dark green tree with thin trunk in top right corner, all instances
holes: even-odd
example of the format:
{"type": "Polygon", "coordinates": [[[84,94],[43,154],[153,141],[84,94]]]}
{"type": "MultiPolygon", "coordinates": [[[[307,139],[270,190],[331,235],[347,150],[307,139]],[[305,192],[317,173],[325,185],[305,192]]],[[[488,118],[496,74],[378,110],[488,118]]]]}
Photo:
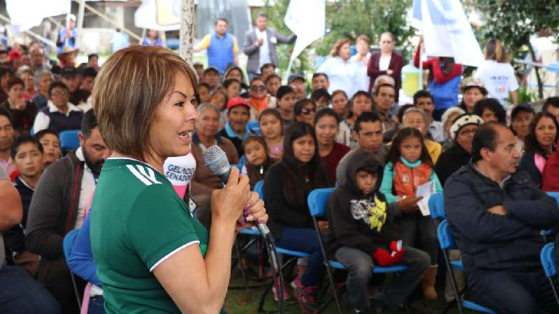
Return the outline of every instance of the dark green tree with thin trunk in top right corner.
{"type": "MultiPolygon", "coordinates": [[[[515,52],[525,45],[534,61],[530,36],[545,29],[552,33],[559,30],[558,0],[472,0],[465,5],[481,13],[485,22],[481,28],[484,39],[499,38],[509,52],[515,52]]],[[[542,98],[542,80],[537,68],[536,77],[538,94],[542,98]]]]}

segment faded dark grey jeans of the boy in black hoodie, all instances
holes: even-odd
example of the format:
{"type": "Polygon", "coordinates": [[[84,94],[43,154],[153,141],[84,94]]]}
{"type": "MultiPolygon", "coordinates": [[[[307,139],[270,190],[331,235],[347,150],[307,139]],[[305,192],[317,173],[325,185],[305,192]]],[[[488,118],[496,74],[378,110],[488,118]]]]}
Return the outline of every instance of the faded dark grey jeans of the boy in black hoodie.
{"type": "MultiPolygon", "coordinates": [[[[353,308],[366,311],[368,308],[368,282],[371,271],[375,268],[372,257],[357,248],[346,246],[338,248],[336,260],[347,268],[346,299],[353,308]]],[[[395,309],[407,299],[429,268],[430,258],[427,253],[416,248],[404,247],[402,264],[409,269],[397,274],[392,281],[382,288],[374,297],[385,306],[395,309]]]]}

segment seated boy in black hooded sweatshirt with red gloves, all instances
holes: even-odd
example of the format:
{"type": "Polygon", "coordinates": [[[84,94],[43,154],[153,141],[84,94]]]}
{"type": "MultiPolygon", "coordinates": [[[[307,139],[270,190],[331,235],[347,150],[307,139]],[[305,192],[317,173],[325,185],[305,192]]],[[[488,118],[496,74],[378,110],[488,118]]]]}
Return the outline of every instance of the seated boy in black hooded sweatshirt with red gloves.
{"type": "Polygon", "coordinates": [[[395,311],[430,264],[427,253],[402,247],[402,235],[394,223],[402,213],[397,202],[387,204],[379,192],[382,172],[382,164],[370,151],[357,151],[349,160],[346,184],[337,187],[328,200],[328,253],[347,268],[345,299],[355,313],[395,311]],[[369,305],[372,269],[398,263],[409,269],[377,292],[369,305]]]}

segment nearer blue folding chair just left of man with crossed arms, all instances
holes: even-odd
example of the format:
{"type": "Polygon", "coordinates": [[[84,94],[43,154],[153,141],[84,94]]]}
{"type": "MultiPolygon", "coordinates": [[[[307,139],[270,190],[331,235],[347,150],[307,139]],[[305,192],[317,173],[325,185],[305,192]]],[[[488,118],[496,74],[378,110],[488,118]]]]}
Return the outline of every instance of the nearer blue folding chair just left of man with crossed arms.
{"type": "Polygon", "coordinates": [[[456,249],[456,243],[454,242],[454,238],[452,237],[452,234],[450,233],[449,223],[447,222],[446,219],[442,220],[441,223],[439,224],[439,227],[437,227],[437,236],[439,237],[439,244],[442,248],[442,255],[444,256],[444,262],[447,264],[448,276],[450,276],[450,278],[451,278],[451,284],[452,284],[452,290],[454,292],[454,297],[456,298],[456,300],[460,300],[460,302],[456,303],[456,304],[458,304],[458,312],[460,312],[460,314],[462,314],[463,313],[462,308],[469,308],[470,310],[479,311],[479,312],[482,312],[482,313],[496,314],[495,311],[490,310],[489,308],[486,308],[484,306],[480,306],[479,304],[476,304],[472,301],[466,301],[466,300],[460,299],[460,295],[458,294],[458,288],[456,287],[456,278],[454,278],[454,274],[452,272],[452,269],[458,269],[460,271],[463,271],[464,267],[463,267],[462,261],[450,262],[450,260],[449,260],[449,255],[448,255],[447,251],[452,250],[452,249],[456,249]]]}

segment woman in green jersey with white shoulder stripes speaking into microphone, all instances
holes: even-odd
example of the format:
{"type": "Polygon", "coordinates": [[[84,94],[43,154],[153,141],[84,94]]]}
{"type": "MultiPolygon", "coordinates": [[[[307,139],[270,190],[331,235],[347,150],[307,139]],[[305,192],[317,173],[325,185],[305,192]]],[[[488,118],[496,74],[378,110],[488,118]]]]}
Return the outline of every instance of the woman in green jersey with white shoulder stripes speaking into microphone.
{"type": "Polygon", "coordinates": [[[238,218],[268,220],[248,178],[233,169],[212,193],[208,236],[165,178],[165,159],[190,151],[195,92],[194,70],[163,47],[119,50],[96,77],[94,110],[113,151],[91,218],[107,313],[219,313],[238,218]]]}

